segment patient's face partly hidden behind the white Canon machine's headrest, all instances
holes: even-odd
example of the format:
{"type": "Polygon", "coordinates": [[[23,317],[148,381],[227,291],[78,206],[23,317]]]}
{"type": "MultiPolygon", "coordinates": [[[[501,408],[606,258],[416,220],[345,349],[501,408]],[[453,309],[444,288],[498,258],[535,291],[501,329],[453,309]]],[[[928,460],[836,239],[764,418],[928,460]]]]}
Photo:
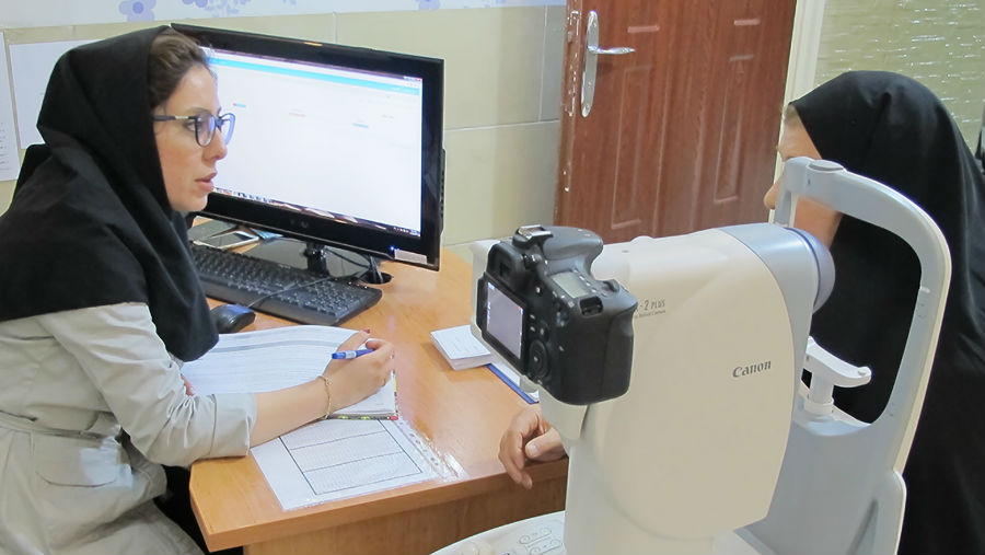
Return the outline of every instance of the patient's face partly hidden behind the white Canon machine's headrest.
{"type": "MultiPolygon", "coordinates": [[[[780,134],[780,141],[776,146],[776,151],[784,162],[797,157],[821,160],[821,153],[818,152],[814,141],[811,140],[811,136],[808,135],[807,129],[799,119],[784,124],[784,130],[780,134]]],[[[769,187],[769,190],[763,197],[763,204],[766,205],[766,208],[770,210],[776,208],[778,194],[779,180],[769,187]]],[[[842,212],[832,210],[822,204],[807,198],[801,198],[797,203],[793,226],[814,235],[828,247],[831,247],[831,242],[834,240],[835,232],[838,230],[838,222],[841,221],[842,212]]]]}

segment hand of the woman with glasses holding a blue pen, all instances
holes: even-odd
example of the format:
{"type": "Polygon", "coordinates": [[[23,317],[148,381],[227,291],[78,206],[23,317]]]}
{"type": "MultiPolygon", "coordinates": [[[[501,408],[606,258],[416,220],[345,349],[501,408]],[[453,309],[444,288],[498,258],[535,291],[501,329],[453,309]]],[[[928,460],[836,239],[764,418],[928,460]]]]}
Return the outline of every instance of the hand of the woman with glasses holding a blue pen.
{"type": "Polygon", "coordinates": [[[394,369],[394,351],[390,342],[370,339],[368,332],[356,332],[338,346],[338,350],[356,350],[363,343],[373,352],[349,360],[333,360],[325,367],[332,394],[329,413],[372,395],[390,379],[394,369]]]}

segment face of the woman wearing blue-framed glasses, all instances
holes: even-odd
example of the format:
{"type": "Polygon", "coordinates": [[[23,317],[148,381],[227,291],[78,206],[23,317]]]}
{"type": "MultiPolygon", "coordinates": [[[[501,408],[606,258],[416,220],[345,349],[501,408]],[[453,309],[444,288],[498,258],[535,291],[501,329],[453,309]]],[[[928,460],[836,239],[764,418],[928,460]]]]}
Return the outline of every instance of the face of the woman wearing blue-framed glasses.
{"type": "MultiPolygon", "coordinates": [[[[219,108],[212,73],[206,67],[195,65],[185,73],[174,94],[154,109],[154,115],[194,116],[204,112],[218,115],[219,108]]],[[[154,138],[171,208],[182,212],[205,208],[216,177],[216,162],[227,153],[219,130],[208,147],[200,147],[195,140],[194,122],[154,122],[154,138]]]]}

